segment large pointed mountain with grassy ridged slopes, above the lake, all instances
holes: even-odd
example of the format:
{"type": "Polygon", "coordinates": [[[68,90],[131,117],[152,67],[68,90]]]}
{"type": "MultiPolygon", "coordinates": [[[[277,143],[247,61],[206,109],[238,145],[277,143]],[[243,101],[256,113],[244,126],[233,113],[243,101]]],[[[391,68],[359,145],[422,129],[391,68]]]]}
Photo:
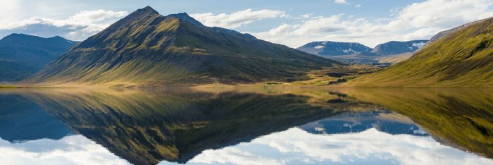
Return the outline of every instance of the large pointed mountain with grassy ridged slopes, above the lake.
{"type": "Polygon", "coordinates": [[[289,81],[342,64],[247,34],[206,27],[187,13],[139,9],[77,44],[23,83],[163,85],[289,81]]]}

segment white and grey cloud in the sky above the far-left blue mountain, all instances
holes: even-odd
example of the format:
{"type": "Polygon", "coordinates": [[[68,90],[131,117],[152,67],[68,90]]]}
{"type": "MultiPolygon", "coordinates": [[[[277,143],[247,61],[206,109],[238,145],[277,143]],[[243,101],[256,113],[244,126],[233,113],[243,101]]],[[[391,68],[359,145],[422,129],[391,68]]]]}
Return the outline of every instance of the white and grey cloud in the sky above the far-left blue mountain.
{"type": "Polygon", "coordinates": [[[104,30],[116,18],[127,15],[127,11],[80,11],[66,19],[32,17],[0,24],[0,32],[24,32],[51,37],[62,35],[68,39],[82,40],[104,30]]]}

